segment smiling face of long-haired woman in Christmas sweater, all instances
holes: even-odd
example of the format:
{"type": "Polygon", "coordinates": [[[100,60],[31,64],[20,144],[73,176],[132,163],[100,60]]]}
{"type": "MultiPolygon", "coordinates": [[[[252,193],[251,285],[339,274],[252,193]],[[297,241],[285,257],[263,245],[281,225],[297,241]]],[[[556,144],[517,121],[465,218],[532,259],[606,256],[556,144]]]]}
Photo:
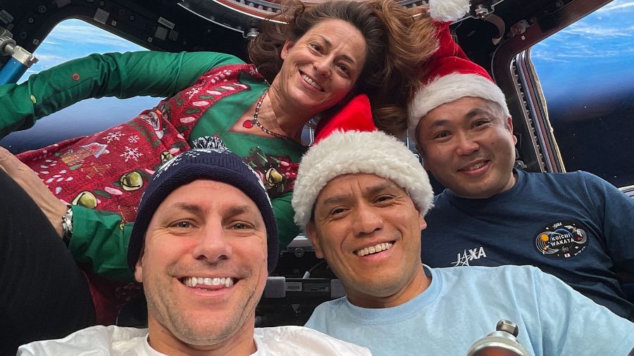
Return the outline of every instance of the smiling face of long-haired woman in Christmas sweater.
{"type": "Polygon", "coordinates": [[[340,103],[363,70],[366,42],[343,20],[323,20],[296,42],[287,41],[284,63],[271,84],[271,96],[311,115],[340,103]]]}

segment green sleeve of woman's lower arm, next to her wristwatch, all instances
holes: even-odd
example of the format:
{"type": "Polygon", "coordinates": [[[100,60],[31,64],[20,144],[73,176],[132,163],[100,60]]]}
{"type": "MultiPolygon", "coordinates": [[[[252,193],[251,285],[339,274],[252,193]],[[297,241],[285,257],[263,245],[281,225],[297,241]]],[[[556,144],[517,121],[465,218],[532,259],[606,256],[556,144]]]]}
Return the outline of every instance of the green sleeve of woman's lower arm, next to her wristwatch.
{"type": "Polygon", "coordinates": [[[132,281],[128,243],[132,223],[122,224],[116,212],[73,205],[73,237],[68,248],[77,263],[86,264],[108,279],[132,281]]]}

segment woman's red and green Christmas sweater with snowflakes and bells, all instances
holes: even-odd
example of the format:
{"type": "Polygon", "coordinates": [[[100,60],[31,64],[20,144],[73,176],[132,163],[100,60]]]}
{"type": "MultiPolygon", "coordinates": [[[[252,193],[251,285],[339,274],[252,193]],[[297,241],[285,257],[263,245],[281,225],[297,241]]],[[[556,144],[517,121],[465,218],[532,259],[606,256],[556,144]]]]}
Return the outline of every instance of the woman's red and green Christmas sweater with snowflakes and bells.
{"type": "MultiPolygon", "coordinates": [[[[0,136],[85,98],[161,96],[125,124],[18,157],[62,201],[73,204],[69,248],[91,284],[98,322],[112,322],[131,281],[128,239],[151,173],[201,136],[216,136],[268,184],[280,246],[299,233],[292,184],[305,151],[290,140],[230,132],[268,87],[252,65],[222,53],[143,51],[80,58],[0,86],[0,136]],[[104,278],[105,277],[105,278],[104,278]]],[[[89,115],[87,115],[89,116],[89,115]]],[[[81,125],[81,122],[77,122],[81,125]]]]}

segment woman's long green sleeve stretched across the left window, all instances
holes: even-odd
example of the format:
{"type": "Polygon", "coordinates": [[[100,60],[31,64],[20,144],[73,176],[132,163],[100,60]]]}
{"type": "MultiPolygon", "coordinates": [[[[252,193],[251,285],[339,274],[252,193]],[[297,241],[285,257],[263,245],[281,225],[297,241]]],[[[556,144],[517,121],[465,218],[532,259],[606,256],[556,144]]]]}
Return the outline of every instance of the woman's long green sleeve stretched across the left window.
{"type": "Polygon", "coordinates": [[[244,63],[212,52],[92,54],[0,86],[0,138],[86,98],[168,97],[218,65],[244,63]]]}

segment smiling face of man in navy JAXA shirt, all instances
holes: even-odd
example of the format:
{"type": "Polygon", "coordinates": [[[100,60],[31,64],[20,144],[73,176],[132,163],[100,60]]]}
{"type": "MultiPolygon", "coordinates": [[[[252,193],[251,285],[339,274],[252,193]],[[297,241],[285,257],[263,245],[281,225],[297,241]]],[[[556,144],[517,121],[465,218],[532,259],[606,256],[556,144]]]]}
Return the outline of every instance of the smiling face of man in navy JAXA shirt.
{"type": "Polygon", "coordinates": [[[416,127],[425,169],[463,198],[511,189],[516,137],[495,103],[466,96],[430,110],[416,127]]]}

